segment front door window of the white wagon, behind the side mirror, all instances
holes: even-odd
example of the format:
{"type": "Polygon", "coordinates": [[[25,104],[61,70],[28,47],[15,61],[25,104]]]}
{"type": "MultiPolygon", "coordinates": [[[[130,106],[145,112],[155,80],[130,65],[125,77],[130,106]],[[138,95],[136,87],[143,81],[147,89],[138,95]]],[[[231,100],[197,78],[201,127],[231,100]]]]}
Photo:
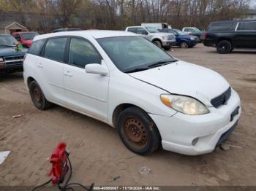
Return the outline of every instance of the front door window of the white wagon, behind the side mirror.
{"type": "Polygon", "coordinates": [[[89,63],[101,63],[102,58],[86,40],[72,38],[69,47],[69,63],[84,68],[89,63]]]}

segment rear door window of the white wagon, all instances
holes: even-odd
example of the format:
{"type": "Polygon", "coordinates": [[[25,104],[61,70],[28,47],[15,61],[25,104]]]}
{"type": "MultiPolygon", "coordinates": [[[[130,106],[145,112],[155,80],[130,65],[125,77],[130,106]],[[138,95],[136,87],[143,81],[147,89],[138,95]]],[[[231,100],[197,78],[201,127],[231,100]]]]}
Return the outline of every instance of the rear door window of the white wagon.
{"type": "Polygon", "coordinates": [[[48,39],[45,44],[44,57],[53,61],[64,62],[64,52],[67,38],[48,39]]]}

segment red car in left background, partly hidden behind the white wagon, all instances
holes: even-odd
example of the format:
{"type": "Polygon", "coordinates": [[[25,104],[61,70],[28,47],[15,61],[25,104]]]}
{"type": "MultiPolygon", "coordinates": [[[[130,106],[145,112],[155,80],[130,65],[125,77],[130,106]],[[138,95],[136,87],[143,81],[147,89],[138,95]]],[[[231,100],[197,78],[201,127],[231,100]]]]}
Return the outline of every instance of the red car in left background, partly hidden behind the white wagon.
{"type": "Polygon", "coordinates": [[[12,33],[12,36],[23,45],[23,47],[30,47],[34,36],[37,36],[36,32],[15,32],[12,33]]]}

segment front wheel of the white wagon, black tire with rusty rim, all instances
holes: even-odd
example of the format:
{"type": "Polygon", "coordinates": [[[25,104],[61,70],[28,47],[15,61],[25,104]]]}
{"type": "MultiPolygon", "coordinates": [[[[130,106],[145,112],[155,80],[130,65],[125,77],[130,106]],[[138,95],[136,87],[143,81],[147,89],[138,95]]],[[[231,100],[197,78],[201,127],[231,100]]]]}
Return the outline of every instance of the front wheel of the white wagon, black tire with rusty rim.
{"type": "Polygon", "coordinates": [[[146,112],[136,107],[124,109],[119,114],[117,129],[124,145],[138,155],[148,155],[161,144],[157,126],[146,112]]]}

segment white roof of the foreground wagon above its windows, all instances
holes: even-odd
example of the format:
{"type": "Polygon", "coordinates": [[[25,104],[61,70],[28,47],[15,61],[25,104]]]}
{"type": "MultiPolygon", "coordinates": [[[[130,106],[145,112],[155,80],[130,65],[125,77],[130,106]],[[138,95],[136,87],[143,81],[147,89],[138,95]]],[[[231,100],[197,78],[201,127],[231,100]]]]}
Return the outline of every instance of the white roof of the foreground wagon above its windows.
{"type": "Polygon", "coordinates": [[[56,36],[92,36],[94,39],[114,37],[114,36],[138,36],[126,31],[106,31],[106,30],[86,30],[86,31],[64,31],[51,34],[42,34],[34,37],[34,41],[47,39],[56,36]]]}

